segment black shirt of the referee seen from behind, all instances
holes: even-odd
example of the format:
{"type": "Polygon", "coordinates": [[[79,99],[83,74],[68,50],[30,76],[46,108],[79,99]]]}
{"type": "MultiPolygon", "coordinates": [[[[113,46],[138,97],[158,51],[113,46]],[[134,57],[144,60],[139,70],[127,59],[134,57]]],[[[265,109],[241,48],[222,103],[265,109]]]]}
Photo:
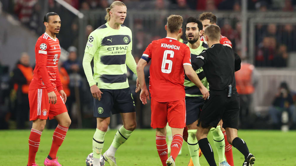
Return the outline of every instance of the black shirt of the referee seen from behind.
{"type": "Polygon", "coordinates": [[[211,48],[203,50],[191,64],[193,70],[203,68],[210,90],[225,90],[230,84],[232,90],[237,90],[234,72],[240,69],[241,59],[232,48],[214,44],[211,48]]]}

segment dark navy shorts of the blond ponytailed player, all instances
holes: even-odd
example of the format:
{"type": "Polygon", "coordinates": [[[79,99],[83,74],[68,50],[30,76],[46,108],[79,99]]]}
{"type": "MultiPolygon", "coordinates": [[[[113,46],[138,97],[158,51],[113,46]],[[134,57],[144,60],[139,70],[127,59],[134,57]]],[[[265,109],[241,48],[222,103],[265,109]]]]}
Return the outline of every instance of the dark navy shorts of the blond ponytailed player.
{"type": "Polygon", "coordinates": [[[101,101],[94,98],[94,117],[110,117],[110,113],[135,112],[135,102],[130,88],[125,89],[100,89],[101,101]]]}

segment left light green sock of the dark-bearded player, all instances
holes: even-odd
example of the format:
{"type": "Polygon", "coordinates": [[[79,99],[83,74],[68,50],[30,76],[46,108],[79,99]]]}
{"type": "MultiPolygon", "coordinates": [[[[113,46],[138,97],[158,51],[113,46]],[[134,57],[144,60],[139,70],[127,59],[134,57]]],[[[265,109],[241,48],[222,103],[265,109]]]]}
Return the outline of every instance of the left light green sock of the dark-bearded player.
{"type": "Polygon", "coordinates": [[[196,132],[197,130],[188,130],[187,144],[193,165],[200,166],[200,159],[198,154],[199,145],[197,143],[196,132]]]}

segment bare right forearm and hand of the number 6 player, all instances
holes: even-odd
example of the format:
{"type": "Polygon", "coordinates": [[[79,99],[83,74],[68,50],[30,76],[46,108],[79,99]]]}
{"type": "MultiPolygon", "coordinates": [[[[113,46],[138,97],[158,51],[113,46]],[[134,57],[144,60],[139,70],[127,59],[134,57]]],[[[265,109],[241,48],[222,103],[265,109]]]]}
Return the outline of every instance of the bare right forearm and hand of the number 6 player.
{"type": "Polygon", "coordinates": [[[210,96],[209,91],[207,88],[202,84],[200,81],[200,78],[198,78],[195,71],[192,69],[190,65],[184,65],[185,74],[187,77],[200,89],[200,92],[202,93],[204,99],[208,98],[210,96]]]}

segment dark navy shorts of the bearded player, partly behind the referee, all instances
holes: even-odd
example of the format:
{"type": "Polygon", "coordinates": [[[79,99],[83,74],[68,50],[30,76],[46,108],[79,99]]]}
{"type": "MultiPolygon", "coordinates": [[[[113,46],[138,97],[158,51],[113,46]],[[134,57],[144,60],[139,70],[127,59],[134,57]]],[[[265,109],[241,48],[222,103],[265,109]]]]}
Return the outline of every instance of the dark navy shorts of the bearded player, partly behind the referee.
{"type": "Polygon", "coordinates": [[[192,124],[198,120],[200,109],[205,100],[202,97],[185,97],[186,104],[186,125],[192,124]]]}

